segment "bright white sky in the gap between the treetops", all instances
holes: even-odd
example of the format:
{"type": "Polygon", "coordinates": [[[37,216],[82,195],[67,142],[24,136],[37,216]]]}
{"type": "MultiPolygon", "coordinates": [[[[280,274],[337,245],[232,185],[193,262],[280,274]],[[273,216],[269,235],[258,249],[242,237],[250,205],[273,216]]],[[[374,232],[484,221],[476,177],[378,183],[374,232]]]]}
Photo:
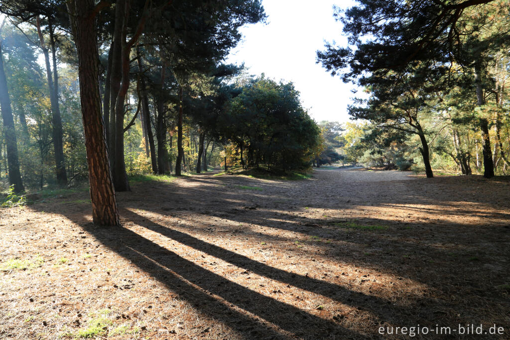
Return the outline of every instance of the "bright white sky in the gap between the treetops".
{"type": "Polygon", "coordinates": [[[342,24],[333,18],[333,5],[347,8],[351,0],[262,0],[268,25],[258,23],[244,27],[243,41],[232,51],[227,62],[242,63],[250,74],[276,81],[292,81],[301,93],[302,104],[320,122],[347,122],[347,105],[360,95],[356,88],[331,77],[321,64],[316,64],[316,51],[324,49],[324,41],[345,46],[342,24]]]}

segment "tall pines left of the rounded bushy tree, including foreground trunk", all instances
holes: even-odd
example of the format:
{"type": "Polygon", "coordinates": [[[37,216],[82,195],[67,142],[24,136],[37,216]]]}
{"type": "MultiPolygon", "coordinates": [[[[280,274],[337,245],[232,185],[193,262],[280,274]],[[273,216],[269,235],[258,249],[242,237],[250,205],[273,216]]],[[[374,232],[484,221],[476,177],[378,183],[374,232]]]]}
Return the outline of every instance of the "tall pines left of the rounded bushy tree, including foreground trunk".
{"type": "Polygon", "coordinates": [[[0,13],[7,16],[10,36],[22,34],[16,44],[32,49],[12,44],[17,47],[8,51],[0,154],[9,162],[0,159],[0,179],[2,167],[9,166],[17,191],[24,189],[21,173],[29,186],[64,186],[84,177],[86,149],[93,217],[101,225],[118,225],[111,185],[130,189],[126,155],[130,173],[150,168],[168,174],[174,160],[176,175],[182,168],[207,169],[224,139],[218,116],[231,99],[220,89],[220,78],[231,72],[222,60],[240,40],[240,27],[265,19],[259,0],[14,0],[0,1],[0,13]],[[36,62],[41,52],[45,73],[36,62]],[[59,60],[65,64],[59,67],[59,60]],[[79,84],[73,82],[76,69],[79,84]],[[9,83],[19,94],[14,116],[7,105],[13,99],[9,83]],[[80,106],[83,125],[73,116],[80,106]],[[27,157],[16,172],[19,147],[27,157]],[[51,161],[53,176],[47,172],[51,161]]]}

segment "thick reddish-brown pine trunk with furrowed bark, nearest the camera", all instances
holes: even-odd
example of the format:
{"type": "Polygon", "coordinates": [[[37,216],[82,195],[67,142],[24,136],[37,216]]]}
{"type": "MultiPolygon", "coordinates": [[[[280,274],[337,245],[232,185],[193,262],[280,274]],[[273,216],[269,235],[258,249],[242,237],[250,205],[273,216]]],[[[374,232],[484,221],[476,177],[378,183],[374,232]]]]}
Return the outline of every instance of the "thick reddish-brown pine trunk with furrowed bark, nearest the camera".
{"type": "Polygon", "coordinates": [[[101,115],[94,1],[69,0],[67,7],[74,43],[78,50],[80,100],[89,169],[92,220],[101,226],[120,226],[101,115]]]}

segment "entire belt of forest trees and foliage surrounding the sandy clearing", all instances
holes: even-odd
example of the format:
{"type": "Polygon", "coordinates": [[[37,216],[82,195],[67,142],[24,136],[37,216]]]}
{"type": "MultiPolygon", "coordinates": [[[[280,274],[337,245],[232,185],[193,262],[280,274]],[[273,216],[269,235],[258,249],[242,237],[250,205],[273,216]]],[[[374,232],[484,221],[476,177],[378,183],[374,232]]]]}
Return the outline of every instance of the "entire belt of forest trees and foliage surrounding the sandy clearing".
{"type": "Polygon", "coordinates": [[[108,197],[132,175],[208,166],[508,172],[506,1],[335,9],[350,46],[327,44],[317,62],[370,95],[346,124],[314,122],[292,83],[224,63],[239,28],[266,19],[257,0],[16,1],[0,12],[4,189],[111,176],[108,197]]]}

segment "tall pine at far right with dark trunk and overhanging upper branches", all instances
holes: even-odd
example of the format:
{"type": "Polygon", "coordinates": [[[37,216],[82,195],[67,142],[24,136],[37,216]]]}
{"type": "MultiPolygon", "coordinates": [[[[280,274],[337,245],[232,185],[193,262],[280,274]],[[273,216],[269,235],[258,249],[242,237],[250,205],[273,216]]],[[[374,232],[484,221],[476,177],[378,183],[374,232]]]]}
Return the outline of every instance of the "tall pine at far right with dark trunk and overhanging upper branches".
{"type": "MultiPolygon", "coordinates": [[[[505,2],[499,0],[425,0],[421,2],[401,2],[364,0],[345,13],[336,9],[335,16],[344,24],[351,47],[326,45],[326,51],[318,52],[318,62],[335,75],[343,72],[344,81],[371,85],[375,79],[386,80],[389,87],[402,81],[402,75],[420,67],[431,78],[449,74],[453,63],[473,69],[477,101],[483,84],[484,51],[492,42],[508,40],[509,27],[485,31],[483,39],[474,32],[481,32],[491,16],[483,4],[494,5],[503,11],[501,18],[507,20],[505,2]],[[469,11],[477,11],[474,22],[468,22],[469,11]],[[468,13],[468,14],[466,14],[468,13]],[[475,41],[477,40],[477,41],[475,41]],[[476,48],[474,48],[476,47],[476,48]],[[348,68],[348,70],[347,70],[348,68]],[[368,75],[368,77],[367,77],[368,75]]],[[[473,76],[473,71],[467,72],[473,76]]],[[[438,78],[439,79],[439,78],[438,78]]],[[[455,77],[443,77],[436,86],[452,87],[455,77]]],[[[484,155],[490,155],[487,118],[480,116],[484,155]]],[[[484,176],[494,175],[493,162],[484,156],[484,176]]]]}

